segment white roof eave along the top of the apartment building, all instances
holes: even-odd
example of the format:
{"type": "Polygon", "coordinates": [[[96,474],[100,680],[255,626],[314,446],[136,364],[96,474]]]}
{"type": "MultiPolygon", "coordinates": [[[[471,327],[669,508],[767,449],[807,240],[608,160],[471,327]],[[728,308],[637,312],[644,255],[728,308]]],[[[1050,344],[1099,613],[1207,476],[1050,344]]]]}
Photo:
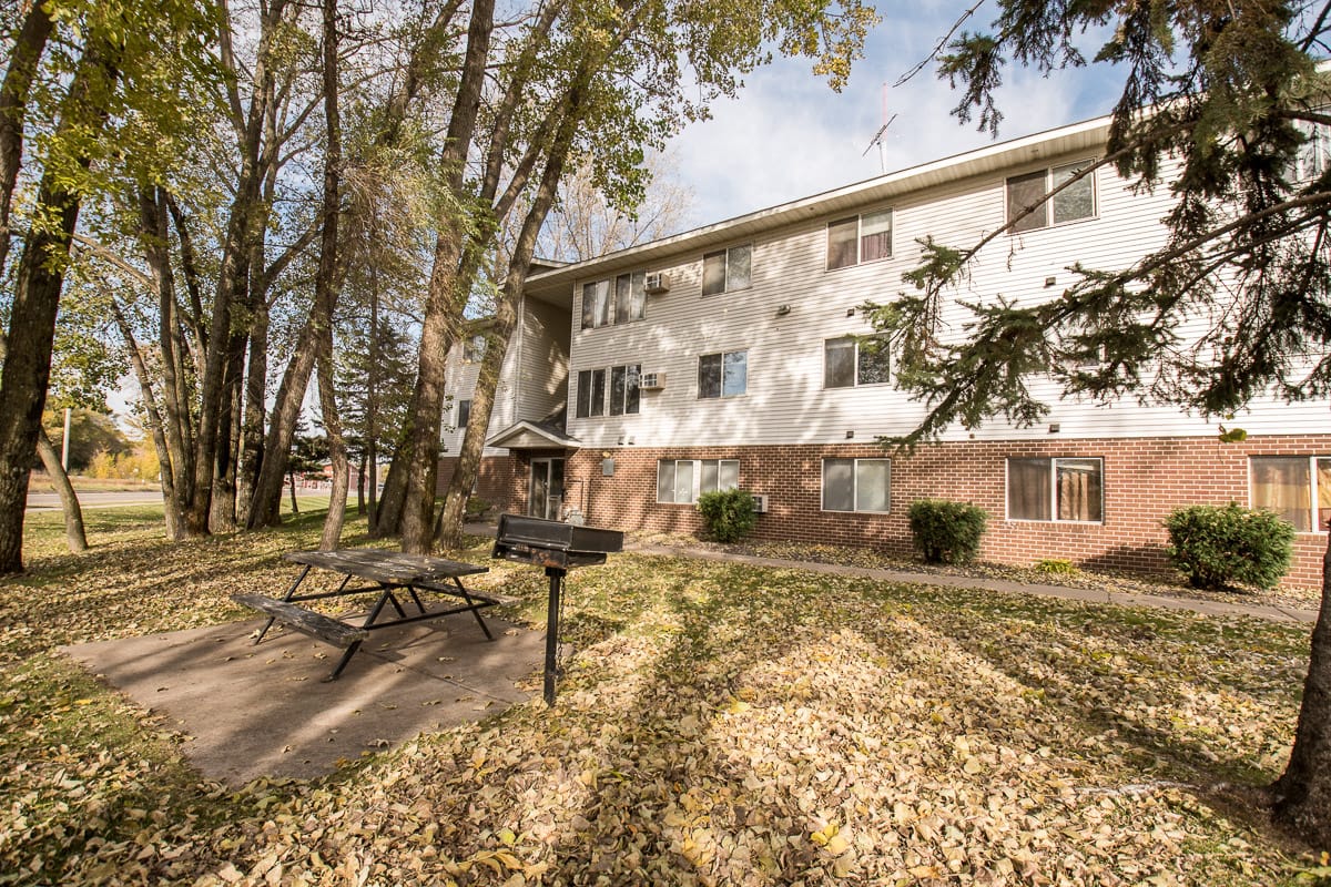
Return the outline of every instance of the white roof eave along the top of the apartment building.
{"type": "Polygon", "coordinates": [[[974,176],[993,174],[1044,157],[1057,157],[1078,150],[1099,150],[1109,136],[1109,117],[1097,117],[997,145],[988,145],[964,154],[909,166],[831,191],[715,222],[683,234],[608,253],[600,258],[540,271],[527,278],[526,291],[530,297],[540,301],[566,303],[571,307],[572,283],[580,278],[650,267],[654,262],[663,262],[680,253],[700,253],[712,246],[733,243],[812,218],[857,211],[866,205],[892,199],[901,194],[974,176]]]}

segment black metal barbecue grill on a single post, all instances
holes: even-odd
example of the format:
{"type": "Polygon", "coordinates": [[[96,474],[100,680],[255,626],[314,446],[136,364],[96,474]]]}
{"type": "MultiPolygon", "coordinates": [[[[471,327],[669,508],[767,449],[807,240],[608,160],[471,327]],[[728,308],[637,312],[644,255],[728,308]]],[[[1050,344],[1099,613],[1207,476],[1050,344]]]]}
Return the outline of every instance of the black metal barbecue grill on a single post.
{"type": "Polygon", "coordinates": [[[578,567],[604,564],[607,555],[623,548],[624,535],[618,529],[579,527],[523,515],[499,515],[491,557],[544,567],[546,576],[550,577],[550,601],[546,610],[546,705],[555,703],[559,602],[563,597],[564,576],[578,567]]]}

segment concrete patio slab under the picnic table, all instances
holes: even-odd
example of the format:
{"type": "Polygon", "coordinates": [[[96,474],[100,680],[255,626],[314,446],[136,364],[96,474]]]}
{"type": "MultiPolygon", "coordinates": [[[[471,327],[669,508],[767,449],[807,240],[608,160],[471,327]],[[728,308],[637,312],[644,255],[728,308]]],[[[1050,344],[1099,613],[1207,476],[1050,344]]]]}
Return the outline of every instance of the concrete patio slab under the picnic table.
{"type": "Polygon", "coordinates": [[[264,620],[61,650],[189,737],[198,770],[232,786],[310,778],[423,730],[478,721],[539,692],[544,632],[470,613],[370,634],[337,681],[341,650],[264,620]]]}

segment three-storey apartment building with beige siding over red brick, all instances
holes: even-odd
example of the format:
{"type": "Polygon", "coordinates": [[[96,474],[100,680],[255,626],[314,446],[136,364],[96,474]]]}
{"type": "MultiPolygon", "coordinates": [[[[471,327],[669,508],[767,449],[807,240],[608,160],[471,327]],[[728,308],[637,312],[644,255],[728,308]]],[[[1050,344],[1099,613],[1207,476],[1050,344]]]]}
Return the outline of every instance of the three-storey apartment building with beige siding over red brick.
{"type": "MultiPolygon", "coordinates": [[[[506,355],[478,492],[502,508],[692,533],[697,496],[760,496],[755,536],[908,555],[909,504],[989,513],[981,557],[1166,567],[1163,517],[1193,503],[1268,507],[1299,531],[1291,584],[1320,581],[1331,517],[1328,404],[1258,402],[1222,443],[1177,407],[1065,399],[1038,427],[1001,418],[902,456],[880,435],[922,406],[892,384],[861,306],[886,302],[932,237],[969,246],[1102,156],[1107,118],[1065,126],[603,258],[534,274],[506,355]]],[[[1069,267],[1111,270],[1162,243],[1163,189],[1110,169],[1059,191],[977,257],[953,299],[1041,299],[1069,267]]],[[[945,313],[964,335],[964,315],[945,313]]],[[[469,343],[474,351],[475,346],[469,343]]],[[[474,363],[459,348],[442,445],[461,444],[474,363]],[[458,428],[458,431],[453,431],[458,428]]],[[[1037,386],[1038,387],[1038,386],[1037,386]]]]}

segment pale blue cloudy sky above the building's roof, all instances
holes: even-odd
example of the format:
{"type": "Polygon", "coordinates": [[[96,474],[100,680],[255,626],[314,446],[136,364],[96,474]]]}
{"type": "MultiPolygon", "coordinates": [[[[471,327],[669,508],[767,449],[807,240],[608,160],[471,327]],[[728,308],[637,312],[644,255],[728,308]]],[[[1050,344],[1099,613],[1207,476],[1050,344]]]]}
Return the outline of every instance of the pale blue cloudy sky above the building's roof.
{"type": "MultiPolygon", "coordinates": [[[[679,178],[693,191],[689,227],[878,176],[878,149],[869,144],[882,125],[884,82],[886,113],[897,114],[884,140],[886,172],[990,144],[974,122],[960,124],[949,113],[957,96],[937,78],[932,64],[906,84],[892,86],[928,56],[969,5],[880,4],[882,23],[870,33],[865,57],[841,93],[815,77],[808,60],[779,59],[747,77],[739,98],[716,102],[713,118],[691,125],[668,152],[679,178]],[[901,7],[909,12],[902,15],[901,7]]],[[[993,7],[981,7],[978,21],[988,24],[992,15],[993,7]]],[[[1085,55],[1091,57],[1099,41],[1086,43],[1085,55]]],[[[1122,85],[1103,65],[1047,78],[1013,69],[1004,80],[1000,141],[1107,113],[1122,85]]]]}

